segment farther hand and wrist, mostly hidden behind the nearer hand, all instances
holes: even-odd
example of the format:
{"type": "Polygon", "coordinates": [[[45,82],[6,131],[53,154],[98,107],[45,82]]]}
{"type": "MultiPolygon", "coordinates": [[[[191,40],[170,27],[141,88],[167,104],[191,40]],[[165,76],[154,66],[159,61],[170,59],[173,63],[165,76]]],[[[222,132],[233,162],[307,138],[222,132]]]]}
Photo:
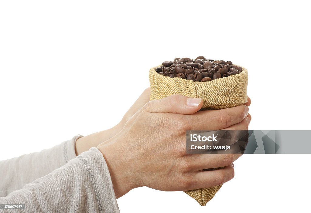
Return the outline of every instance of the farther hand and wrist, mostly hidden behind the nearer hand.
{"type": "Polygon", "coordinates": [[[100,143],[112,138],[121,129],[123,129],[125,123],[130,119],[142,106],[150,101],[150,88],[146,88],[131,108],[125,113],[120,123],[111,129],[96,132],[88,136],[77,139],[75,144],[76,155],[80,155],[82,152],[88,151],[91,147],[97,147],[100,143]]]}

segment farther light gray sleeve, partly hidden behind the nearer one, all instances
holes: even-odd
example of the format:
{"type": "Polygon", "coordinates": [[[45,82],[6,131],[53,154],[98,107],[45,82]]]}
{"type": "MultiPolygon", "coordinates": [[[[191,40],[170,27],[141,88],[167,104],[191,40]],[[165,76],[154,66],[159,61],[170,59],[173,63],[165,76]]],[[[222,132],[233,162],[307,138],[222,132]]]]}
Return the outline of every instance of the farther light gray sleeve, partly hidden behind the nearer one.
{"type": "Polygon", "coordinates": [[[50,149],[0,161],[0,197],[23,188],[75,158],[74,146],[81,137],[77,135],[50,149]]]}

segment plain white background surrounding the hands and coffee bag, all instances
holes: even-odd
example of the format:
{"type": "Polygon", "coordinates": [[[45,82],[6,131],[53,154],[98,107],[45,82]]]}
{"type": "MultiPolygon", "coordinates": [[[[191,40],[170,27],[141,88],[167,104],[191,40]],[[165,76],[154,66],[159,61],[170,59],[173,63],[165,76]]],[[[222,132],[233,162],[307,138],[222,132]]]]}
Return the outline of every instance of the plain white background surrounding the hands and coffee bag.
{"type": "MultiPolygon", "coordinates": [[[[149,68],[175,57],[246,67],[250,129],[311,129],[306,2],[1,1],[0,159],[114,126],[149,86],[149,68]]],[[[183,192],[149,188],[118,205],[121,212],[307,212],[310,156],[244,155],[205,207],[183,192]]]]}

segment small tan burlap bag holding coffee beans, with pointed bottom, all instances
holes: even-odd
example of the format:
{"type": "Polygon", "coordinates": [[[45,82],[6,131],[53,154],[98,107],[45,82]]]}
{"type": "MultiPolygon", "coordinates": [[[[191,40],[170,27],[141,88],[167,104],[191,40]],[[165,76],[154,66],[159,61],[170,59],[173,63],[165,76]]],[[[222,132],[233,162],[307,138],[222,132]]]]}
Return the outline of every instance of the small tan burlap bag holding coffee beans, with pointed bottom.
{"type": "MultiPolygon", "coordinates": [[[[159,65],[161,66],[161,65],[159,65]]],[[[239,106],[247,102],[247,70],[229,77],[214,79],[207,82],[194,82],[182,78],[169,78],[160,75],[153,67],[149,71],[151,87],[150,100],[158,100],[173,94],[203,99],[203,110],[224,109],[239,106]]],[[[208,170],[216,170],[214,168],[208,170]]],[[[194,198],[201,206],[205,206],[216,194],[222,185],[211,188],[201,188],[184,191],[194,198]]]]}

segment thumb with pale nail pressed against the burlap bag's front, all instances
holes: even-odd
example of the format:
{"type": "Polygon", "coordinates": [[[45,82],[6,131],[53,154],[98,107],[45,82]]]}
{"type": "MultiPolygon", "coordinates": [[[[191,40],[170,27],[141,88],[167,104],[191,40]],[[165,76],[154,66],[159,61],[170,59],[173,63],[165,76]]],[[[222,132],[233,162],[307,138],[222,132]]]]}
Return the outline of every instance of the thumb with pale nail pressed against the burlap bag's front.
{"type": "Polygon", "coordinates": [[[179,113],[190,115],[199,111],[203,106],[201,98],[187,97],[174,94],[169,97],[150,101],[145,105],[146,111],[160,113],[179,113]]]}

